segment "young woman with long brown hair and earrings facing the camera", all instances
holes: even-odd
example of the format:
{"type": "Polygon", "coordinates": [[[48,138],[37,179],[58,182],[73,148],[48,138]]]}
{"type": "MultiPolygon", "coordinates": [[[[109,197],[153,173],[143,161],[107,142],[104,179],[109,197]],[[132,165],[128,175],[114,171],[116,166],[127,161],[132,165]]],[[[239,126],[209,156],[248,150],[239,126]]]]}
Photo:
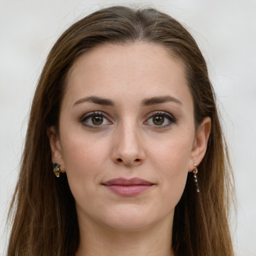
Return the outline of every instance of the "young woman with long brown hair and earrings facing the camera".
{"type": "Polygon", "coordinates": [[[8,255],[233,255],[230,177],[191,35],[155,9],[96,11],[42,70],[8,255]]]}

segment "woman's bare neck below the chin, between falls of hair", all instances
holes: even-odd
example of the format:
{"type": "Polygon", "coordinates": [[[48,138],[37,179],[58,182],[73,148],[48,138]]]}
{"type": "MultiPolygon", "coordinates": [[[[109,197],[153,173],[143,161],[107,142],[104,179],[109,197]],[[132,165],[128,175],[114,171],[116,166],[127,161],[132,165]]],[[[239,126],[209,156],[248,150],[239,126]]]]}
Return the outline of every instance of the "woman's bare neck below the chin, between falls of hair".
{"type": "Polygon", "coordinates": [[[116,230],[93,222],[79,223],[80,242],[75,256],[173,256],[172,223],[154,224],[139,230],[116,230]]]}

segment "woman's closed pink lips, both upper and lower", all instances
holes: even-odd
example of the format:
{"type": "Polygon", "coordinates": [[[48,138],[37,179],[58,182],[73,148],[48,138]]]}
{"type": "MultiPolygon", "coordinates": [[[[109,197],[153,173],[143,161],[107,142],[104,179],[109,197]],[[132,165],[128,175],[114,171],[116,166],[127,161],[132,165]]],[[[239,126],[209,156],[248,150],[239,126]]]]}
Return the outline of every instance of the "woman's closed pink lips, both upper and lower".
{"type": "Polygon", "coordinates": [[[106,188],[122,196],[133,196],[149,189],[153,183],[141,178],[113,178],[103,182],[106,188]]]}

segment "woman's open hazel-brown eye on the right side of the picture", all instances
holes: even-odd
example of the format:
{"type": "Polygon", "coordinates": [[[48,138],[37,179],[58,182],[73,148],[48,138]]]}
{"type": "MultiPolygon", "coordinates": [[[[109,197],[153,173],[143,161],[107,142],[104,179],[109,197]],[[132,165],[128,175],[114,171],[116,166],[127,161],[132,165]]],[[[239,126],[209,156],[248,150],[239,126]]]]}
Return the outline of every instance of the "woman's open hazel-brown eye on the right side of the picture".
{"type": "Polygon", "coordinates": [[[145,121],[146,124],[152,126],[168,126],[175,122],[174,117],[165,111],[156,111],[151,113],[149,118],[145,121]]]}

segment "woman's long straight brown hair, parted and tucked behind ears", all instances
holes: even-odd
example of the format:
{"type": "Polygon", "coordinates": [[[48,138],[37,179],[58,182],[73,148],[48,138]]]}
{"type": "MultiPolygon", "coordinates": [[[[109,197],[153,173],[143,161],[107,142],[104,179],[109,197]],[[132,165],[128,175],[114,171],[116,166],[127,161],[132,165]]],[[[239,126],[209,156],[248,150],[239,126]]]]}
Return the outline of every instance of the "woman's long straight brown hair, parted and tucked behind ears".
{"type": "Polygon", "coordinates": [[[211,118],[206,154],[198,167],[200,192],[189,174],[175,207],[172,248],[178,256],[233,255],[228,227],[230,171],[215,96],[205,60],[192,36],[174,18],[153,8],[113,6],[74,23],[52,47],[31,105],[22,163],[9,217],[7,255],[74,255],[79,228],[66,175],[52,171],[46,127],[58,127],[68,71],[83,52],[104,42],[153,42],[179,58],[193,98],[194,123],[211,118]]]}

